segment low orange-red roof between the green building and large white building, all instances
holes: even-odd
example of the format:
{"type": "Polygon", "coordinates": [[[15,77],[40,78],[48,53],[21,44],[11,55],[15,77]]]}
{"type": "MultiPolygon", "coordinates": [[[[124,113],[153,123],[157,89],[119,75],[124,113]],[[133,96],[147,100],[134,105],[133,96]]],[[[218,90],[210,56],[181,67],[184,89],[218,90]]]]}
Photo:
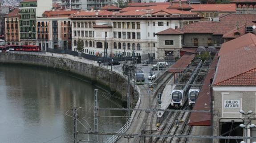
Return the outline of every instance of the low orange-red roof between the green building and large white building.
{"type": "Polygon", "coordinates": [[[68,17],[69,15],[76,14],[77,11],[65,11],[65,10],[55,10],[55,11],[45,11],[43,13],[44,17],[68,17]]]}

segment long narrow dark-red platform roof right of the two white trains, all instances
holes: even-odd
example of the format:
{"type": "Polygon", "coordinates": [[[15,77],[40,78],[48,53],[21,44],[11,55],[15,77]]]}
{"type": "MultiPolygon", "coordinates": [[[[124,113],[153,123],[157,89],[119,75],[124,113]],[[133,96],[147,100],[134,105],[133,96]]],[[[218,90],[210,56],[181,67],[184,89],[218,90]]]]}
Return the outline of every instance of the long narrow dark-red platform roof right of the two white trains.
{"type": "MultiPolygon", "coordinates": [[[[206,110],[210,111],[210,80],[214,77],[215,66],[218,62],[217,54],[213,58],[213,61],[210,66],[210,70],[207,73],[205,80],[203,81],[203,85],[200,89],[199,95],[196,99],[195,106],[193,110],[206,110]]],[[[204,112],[192,112],[189,117],[188,125],[191,126],[210,126],[211,124],[211,114],[204,112]]]]}

